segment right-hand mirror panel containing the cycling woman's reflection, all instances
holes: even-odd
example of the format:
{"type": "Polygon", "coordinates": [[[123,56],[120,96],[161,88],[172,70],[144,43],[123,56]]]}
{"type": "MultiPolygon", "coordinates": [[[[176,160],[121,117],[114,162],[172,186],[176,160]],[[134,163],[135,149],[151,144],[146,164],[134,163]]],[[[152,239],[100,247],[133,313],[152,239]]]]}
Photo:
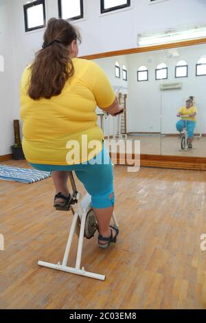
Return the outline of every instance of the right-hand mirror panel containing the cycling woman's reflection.
{"type": "Polygon", "coordinates": [[[161,89],[162,155],[206,157],[205,76],[196,74],[205,54],[205,44],[162,53],[169,74],[161,89]]]}

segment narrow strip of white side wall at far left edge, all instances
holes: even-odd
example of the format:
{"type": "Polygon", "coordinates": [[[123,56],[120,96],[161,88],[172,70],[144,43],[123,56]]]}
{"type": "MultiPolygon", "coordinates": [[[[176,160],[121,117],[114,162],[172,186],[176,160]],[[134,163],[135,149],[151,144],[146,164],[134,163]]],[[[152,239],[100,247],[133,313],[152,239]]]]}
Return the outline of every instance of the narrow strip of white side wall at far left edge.
{"type": "MultiPolygon", "coordinates": [[[[3,56],[3,66],[1,62],[0,71],[0,155],[10,154],[10,146],[14,144],[15,71],[9,13],[9,1],[0,0],[0,55],[3,56]]],[[[19,106],[18,102],[15,103],[19,106]]]]}

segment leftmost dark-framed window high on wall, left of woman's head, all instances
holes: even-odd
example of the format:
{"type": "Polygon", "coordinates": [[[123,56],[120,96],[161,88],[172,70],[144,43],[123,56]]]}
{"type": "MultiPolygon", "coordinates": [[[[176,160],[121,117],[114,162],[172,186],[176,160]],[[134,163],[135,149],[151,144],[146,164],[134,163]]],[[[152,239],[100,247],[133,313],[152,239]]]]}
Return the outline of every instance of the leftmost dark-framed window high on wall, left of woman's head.
{"type": "Polygon", "coordinates": [[[23,6],[25,32],[46,26],[45,0],[37,0],[23,6]]]}

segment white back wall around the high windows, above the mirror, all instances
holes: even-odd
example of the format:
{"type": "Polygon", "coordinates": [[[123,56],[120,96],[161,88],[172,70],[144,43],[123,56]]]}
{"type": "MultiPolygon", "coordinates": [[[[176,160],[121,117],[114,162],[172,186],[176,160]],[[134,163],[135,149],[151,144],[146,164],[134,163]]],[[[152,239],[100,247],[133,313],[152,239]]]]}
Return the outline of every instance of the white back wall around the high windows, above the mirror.
{"type": "MultiPolygon", "coordinates": [[[[16,84],[34,53],[41,48],[44,30],[24,32],[23,3],[26,0],[8,0],[12,4],[11,19],[16,55],[16,84]]],[[[129,10],[100,15],[100,0],[84,0],[84,20],[74,22],[82,33],[80,56],[109,52],[115,49],[137,47],[139,32],[154,32],[170,27],[188,27],[205,23],[206,3],[202,0],[168,0],[148,5],[149,0],[132,0],[129,10]],[[177,9],[178,8],[178,9],[177,9]],[[174,19],[175,17],[175,19],[174,19]],[[178,25],[176,21],[179,21],[178,25]]],[[[47,19],[58,17],[58,1],[47,0],[47,19]]],[[[16,89],[16,102],[18,89],[16,89]]],[[[16,104],[16,113],[19,105],[16,104]]]]}

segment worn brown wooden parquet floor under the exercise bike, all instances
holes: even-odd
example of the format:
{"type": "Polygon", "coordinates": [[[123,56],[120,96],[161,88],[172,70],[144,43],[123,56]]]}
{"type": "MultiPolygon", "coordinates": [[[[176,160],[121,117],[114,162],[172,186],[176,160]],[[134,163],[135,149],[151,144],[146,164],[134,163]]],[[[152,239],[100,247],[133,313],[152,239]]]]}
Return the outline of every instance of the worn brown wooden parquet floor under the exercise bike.
{"type": "MultiPolygon", "coordinates": [[[[26,161],[3,164],[27,166],[26,161]]],[[[206,172],[115,166],[120,234],[109,249],[84,241],[93,280],[38,267],[62,259],[71,214],[52,207],[52,179],[0,181],[1,309],[205,309],[206,172]]],[[[78,188],[82,186],[78,183],[78,188]]],[[[77,240],[76,240],[77,241],[77,240]]],[[[75,246],[71,263],[75,261],[75,246]]]]}

